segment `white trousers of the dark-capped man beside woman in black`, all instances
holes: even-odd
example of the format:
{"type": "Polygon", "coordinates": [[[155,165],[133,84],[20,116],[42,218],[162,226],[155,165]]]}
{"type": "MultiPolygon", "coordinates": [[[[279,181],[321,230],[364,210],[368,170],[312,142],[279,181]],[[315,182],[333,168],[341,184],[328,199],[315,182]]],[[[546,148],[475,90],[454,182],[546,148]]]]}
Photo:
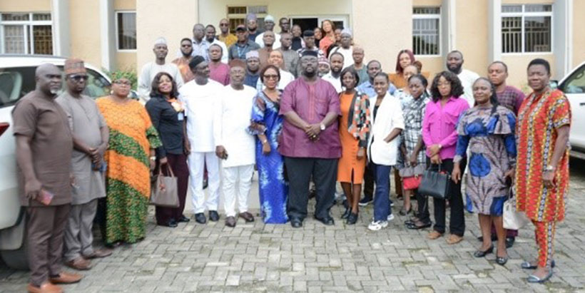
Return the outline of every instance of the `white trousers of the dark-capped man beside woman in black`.
{"type": "Polygon", "coordinates": [[[195,214],[208,210],[218,210],[219,205],[219,159],[214,152],[208,153],[190,153],[189,159],[189,189],[191,191],[191,200],[193,202],[193,211],[195,214]],[[203,171],[207,165],[208,191],[209,196],[205,201],[205,192],[203,192],[203,171]]]}

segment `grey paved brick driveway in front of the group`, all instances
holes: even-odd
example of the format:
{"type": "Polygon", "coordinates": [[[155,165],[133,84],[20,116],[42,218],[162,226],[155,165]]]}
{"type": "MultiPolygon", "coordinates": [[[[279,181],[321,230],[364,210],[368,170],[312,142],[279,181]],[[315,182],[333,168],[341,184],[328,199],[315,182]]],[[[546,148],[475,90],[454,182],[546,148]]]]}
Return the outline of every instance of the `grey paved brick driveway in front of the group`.
{"type": "MultiPolygon", "coordinates": [[[[464,241],[449,246],[428,241],[427,230],[406,230],[397,216],[379,232],[367,230],[372,207],[361,210],[357,225],[335,226],[311,218],[302,229],[264,225],[259,219],[235,228],[218,223],[156,227],[148,236],[123,246],[94,267],[67,292],[585,292],[585,161],[571,162],[566,221],[557,226],[554,277],[527,284],[523,259],[536,255],[531,227],[520,231],[505,267],[494,255],[474,258],[479,226],[467,214],[464,241]]],[[[256,185],[256,183],[255,183],[256,185]]],[[[257,188],[253,194],[257,194],[257,188]]],[[[258,196],[253,196],[253,202],[258,196]]],[[[310,203],[314,203],[311,201],[310,203]]],[[[394,210],[400,209],[397,202],[394,210]]],[[[256,204],[255,207],[258,207],[256,204]]],[[[258,210],[255,210],[257,212],[258,210]]],[[[190,210],[188,211],[191,214],[190,210]]],[[[153,211],[151,210],[151,216],[153,211]]],[[[28,272],[0,264],[0,292],[23,292],[28,272]]]]}

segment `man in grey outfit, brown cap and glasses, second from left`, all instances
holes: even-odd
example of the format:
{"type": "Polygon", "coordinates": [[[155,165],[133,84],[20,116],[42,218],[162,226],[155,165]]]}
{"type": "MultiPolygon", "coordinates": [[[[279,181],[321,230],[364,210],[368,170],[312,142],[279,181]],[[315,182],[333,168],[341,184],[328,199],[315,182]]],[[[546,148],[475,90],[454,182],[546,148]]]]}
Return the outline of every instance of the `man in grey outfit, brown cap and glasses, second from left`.
{"type": "Polygon", "coordinates": [[[73,134],[71,173],[75,182],[71,189],[73,201],[65,228],[63,257],[68,267],[84,270],[91,268],[89,259],[112,254],[111,250],[93,250],[91,233],[98,198],[106,197],[103,153],[108,148],[109,131],[96,102],[83,95],[88,78],[83,61],[67,59],[64,70],[66,91],[56,102],[67,113],[73,134]]]}

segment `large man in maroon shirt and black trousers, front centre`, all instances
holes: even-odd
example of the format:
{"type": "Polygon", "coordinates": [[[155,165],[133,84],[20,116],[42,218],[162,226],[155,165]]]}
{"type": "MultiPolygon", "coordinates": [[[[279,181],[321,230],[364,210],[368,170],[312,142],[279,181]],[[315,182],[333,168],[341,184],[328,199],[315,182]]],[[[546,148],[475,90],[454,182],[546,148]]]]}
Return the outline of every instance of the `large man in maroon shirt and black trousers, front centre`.
{"type": "Polygon", "coordinates": [[[341,145],[337,118],[340,100],[335,88],[317,76],[317,51],[300,58],[301,77],[290,83],[280,102],[284,115],[282,143],[289,178],[287,213],[292,227],[302,227],[307,217],[309,180],[315,181],[315,219],[333,225],[330,209],[335,200],[337,159],[341,145]]]}

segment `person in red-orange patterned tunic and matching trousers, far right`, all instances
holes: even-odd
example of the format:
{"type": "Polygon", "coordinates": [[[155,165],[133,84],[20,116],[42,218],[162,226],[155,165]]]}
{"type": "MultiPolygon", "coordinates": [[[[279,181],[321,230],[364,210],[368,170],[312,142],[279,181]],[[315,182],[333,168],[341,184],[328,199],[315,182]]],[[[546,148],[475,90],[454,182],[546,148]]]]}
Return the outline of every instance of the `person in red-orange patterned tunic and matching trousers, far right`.
{"type": "Polygon", "coordinates": [[[517,210],[534,223],[538,259],[522,263],[536,269],[528,282],[546,282],[552,276],[556,222],[564,220],[569,187],[569,127],[571,108],[564,93],[549,88],[549,62],[534,59],[528,65],[532,93],[518,113],[516,128],[517,210]]]}

